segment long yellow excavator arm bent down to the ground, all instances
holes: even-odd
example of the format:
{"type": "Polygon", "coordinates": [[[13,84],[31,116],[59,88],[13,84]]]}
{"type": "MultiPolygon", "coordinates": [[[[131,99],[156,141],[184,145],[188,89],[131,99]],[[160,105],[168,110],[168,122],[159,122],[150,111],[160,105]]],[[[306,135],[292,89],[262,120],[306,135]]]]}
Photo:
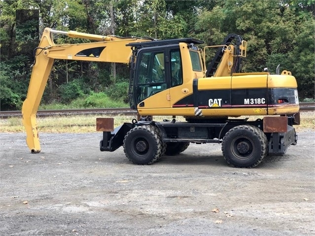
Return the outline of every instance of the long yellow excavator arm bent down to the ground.
{"type": "Polygon", "coordinates": [[[45,28],[39,45],[34,50],[35,62],[31,74],[26,100],[22,106],[22,121],[26,130],[26,142],[32,153],[40,152],[36,113],[55,59],[129,63],[132,42],[150,41],[152,38],[118,37],[114,35],[63,32],[45,28]],[[79,44],[55,44],[53,34],[87,38],[96,42],[79,44]]]}

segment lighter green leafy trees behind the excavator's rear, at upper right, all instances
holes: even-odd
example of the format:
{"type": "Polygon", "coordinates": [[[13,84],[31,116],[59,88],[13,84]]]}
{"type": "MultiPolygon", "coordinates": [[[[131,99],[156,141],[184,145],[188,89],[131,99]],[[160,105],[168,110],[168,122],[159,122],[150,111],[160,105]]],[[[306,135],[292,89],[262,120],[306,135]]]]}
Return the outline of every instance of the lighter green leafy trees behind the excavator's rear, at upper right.
{"type": "Polygon", "coordinates": [[[303,4],[220,1],[201,12],[195,26],[195,36],[210,45],[220,44],[230,33],[242,35],[247,41],[244,71],[262,71],[268,65],[275,72],[281,64],[296,77],[300,96],[314,97],[314,85],[307,89],[314,84],[314,19],[303,4]]]}

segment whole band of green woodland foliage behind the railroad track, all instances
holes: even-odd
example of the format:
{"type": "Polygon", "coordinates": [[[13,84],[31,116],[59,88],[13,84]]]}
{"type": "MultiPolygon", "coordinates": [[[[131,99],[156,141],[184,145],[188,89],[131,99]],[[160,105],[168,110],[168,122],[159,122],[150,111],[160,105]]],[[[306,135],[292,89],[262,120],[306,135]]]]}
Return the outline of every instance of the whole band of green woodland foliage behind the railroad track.
{"type": "MultiPolygon", "coordinates": [[[[38,34],[34,17],[16,19],[16,12],[24,9],[39,10],[40,34],[49,27],[159,39],[196,37],[208,45],[221,44],[227,34],[240,34],[247,41],[243,71],[268,67],[275,72],[280,64],[280,70],[296,77],[301,99],[312,98],[314,4],[315,0],[1,0],[0,109],[20,109],[26,98],[38,34]]],[[[58,35],[55,42],[91,40],[58,35]]],[[[212,55],[207,53],[207,58],[212,55]]],[[[90,92],[105,90],[108,97],[127,101],[129,70],[117,64],[114,78],[112,68],[109,63],[55,60],[42,101],[94,104],[92,98],[85,101],[90,92]]]]}

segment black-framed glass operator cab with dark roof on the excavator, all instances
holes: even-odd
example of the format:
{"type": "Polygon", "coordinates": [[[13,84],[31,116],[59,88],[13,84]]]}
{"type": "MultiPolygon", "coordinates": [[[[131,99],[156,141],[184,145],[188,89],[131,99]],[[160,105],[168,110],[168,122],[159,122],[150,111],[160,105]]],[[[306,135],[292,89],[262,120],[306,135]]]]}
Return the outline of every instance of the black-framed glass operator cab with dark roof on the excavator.
{"type": "MultiPolygon", "coordinates": [[[[194,38],[156,40],[149,42],[130,43],[127,46],[133,47],[131,57],[130,89],[129,99],[131,107],[136,109],[141,101],[167,89],[183,84],[183,62],[179,43],[187,45],[192,65],[199,65],[201,62],[197,46],[194,44],[203,41],[194,38]],[[196,57],[197,55],[197,57],[196,57]],[[137,60],[136,60],[137,58],[137,60]]],[[[194,66],[193,66],[194,67],[194,66]]]]}

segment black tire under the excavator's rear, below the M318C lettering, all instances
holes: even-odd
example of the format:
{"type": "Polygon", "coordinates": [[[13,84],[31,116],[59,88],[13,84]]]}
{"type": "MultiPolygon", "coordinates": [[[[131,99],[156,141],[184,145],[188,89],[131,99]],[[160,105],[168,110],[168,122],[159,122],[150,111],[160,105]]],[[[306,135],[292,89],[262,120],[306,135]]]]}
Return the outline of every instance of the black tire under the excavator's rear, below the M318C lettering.
{"type": "Polygon", "coordinates": [[[255,126],[236,126],[225,134],[222,153],[232,167],[253,168],[267,156],[268,139],[255,126]]]}

